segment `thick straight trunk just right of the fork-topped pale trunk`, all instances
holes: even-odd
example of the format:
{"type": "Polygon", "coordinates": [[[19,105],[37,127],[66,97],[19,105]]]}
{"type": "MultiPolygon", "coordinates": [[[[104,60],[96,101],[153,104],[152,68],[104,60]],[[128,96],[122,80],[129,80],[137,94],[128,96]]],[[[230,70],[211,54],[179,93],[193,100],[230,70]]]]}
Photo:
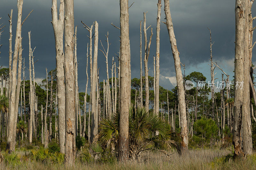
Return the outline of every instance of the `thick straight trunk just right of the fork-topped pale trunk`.
{"type": "Polygon", "coordinates": [[[76,158],[76,109],[75,70],[74,70],[74,0],[64,0],[64,36],[65,36],[65,162],[74,164],[76,158]]]}

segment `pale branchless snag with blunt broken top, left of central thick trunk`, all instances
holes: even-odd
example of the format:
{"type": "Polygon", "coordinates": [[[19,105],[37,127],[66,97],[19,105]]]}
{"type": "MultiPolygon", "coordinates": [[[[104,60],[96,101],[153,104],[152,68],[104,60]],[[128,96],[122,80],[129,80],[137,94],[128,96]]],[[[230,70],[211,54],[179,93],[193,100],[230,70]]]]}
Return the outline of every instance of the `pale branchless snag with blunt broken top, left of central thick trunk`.
{"type": "Polygon", "coordinates": [[[90,144],[98,132],[97,124],[97,103],[96,103],[96,83],[97,83],[97,58],[98,58],[98,22],[95,21],[94,25],[94,56],[93,56],[93,70],[92,70],[92,89],[91,89],[91,98],[92,98],[92,128],[91,128],[91,137],[90,144]]]}

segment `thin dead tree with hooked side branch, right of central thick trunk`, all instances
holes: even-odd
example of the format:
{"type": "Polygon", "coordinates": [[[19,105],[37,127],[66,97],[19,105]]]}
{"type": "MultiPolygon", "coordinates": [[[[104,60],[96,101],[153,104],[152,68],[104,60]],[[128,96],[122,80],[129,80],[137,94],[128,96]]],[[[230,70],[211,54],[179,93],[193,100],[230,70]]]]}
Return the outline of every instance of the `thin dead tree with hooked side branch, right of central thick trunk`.
{"type": "Polygon", "coordinates": [[[150,35],[150,39],[149,39],[149,43],[147,40],[147,30],[148,28],[146,28],[146,13],[144,12],[144,21],[143,21],[143,25],[144,25],[144,40],[145,40],[145,56],[144,56],[144,65],[145,65],[145,92],[146,92],[146,100],[145,100],[145,107],[146,107],[146,112],[148,112],[149,110],[149,87],[148,87],[148,56],[149,56],[149,51],[150,51],[150,45],[151,45],[151,39],[153,36],[153,30],[151,28],[151,35],[150,35]]]}

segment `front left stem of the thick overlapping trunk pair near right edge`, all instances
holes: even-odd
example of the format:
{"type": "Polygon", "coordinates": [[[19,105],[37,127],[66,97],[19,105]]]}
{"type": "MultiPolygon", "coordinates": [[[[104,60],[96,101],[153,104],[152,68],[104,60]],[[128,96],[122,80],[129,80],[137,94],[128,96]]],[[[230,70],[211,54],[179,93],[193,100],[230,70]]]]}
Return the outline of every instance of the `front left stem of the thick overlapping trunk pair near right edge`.
{"type": "MultiPolygon", "coordinates": [[[[246,10],[248,8],[248,0],[236,0],[235,16],[236,16],[236,41],[235,41],[235,82],[244,81],[244,56],[246,55],[246,18],[249,15],[246,10]]],[[[248,34],[247,34],[248,35],[248,34]]],[[[233,145],[235,148],[235,156],[244,156],[242,150],[242,119],[244,112],[244,90],[235,88],[235,107],[234,107],[234,125],[233,125],[233,145]]],[[[245,127],[243,127],[244,129],[245,127]]]]}

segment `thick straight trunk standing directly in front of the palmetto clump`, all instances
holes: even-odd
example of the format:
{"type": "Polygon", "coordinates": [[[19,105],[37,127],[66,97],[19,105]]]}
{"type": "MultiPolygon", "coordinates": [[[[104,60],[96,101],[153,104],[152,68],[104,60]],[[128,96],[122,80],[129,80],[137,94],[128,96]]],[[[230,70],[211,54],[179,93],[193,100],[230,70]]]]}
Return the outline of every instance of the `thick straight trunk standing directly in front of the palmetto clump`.
{"type": "Polygon", "coordinates": [[[128,0],[120,0],[120,119],[118,137],[118,159],[128,160],[129,151],[129,100],[131,96],[130,79],[130,40],[129,40],[129,7],[128,0]],[[127,83],[128,82],[128,83],[127,83]]]}

